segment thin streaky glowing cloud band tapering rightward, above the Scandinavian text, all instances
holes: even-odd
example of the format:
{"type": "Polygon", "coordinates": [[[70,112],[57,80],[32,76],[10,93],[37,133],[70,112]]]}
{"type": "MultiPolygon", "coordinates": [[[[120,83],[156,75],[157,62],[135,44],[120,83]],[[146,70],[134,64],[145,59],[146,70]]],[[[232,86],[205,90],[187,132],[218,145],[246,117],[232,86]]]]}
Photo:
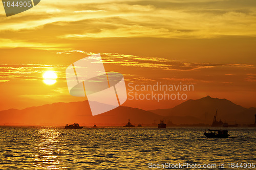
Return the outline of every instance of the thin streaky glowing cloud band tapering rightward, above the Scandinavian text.
{"type": "MultiPolygon", "coordinates": [[[[95,55],[96,53],[87,53],[84,51],[67,51],[65,53],[82,53],[89,55],[95,55]]],[[[215,67],[244,67],[250,68],[253,65],[250,64],[215,64],[215,63],[196,63],[186,62],[165,58],[155,57],[142,57],[133,55],[124,55],[117,53],[100,53],[104,63],[117,64],[120,66],[132,66],[141,68],[152,68],[162,70],[179,70],[190,71],[196,69],[207,69],[215,67]]]]}

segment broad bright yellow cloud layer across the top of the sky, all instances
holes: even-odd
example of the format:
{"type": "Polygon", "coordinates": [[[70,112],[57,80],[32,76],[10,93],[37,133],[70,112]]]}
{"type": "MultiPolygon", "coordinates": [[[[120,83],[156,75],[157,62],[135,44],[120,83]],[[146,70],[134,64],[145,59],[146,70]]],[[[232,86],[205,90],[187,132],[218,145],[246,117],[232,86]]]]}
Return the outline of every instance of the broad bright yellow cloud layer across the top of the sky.
{"type": "Polygon", "coordinates": [[[256,37],[255,20],[254,0],[61,3],[45,0],[26,12],[0,17],[0,36],[6,38],[1,40],[0,47],[63,47],[67,44],[62,39],[110,37],[256,37]],[[34,36],[48,42],[35,42],[34,36]],[[56,40],[58,43],[51,44],[56,40]]]}

